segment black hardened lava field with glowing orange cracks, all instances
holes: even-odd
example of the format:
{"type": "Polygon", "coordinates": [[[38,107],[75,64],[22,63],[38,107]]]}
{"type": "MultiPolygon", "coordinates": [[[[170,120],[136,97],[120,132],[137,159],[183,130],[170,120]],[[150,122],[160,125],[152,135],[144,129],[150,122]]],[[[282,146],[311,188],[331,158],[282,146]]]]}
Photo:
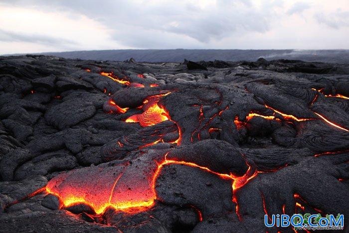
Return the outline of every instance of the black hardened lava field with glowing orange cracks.
{"type": "Polygon", "coordinates": [[[348,97],[349,65],[0,57],[0,232],[349,216],[348,97]]]}

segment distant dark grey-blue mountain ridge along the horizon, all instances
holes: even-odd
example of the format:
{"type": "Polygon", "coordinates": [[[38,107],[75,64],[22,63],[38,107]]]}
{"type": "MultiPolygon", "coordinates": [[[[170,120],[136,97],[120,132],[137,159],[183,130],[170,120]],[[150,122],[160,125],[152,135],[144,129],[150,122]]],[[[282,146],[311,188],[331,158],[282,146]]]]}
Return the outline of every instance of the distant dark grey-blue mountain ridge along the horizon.
{"type": "Polygon", "coordinates": [[[182,62],[192,61],[255,61],[260,57],[267,60],[295,59],[349,64],[349,50],[241,50],[241,49],[120,49],[120,50],[90,50],[71,52],[47,52],[44,55],[54,55],[64,58],[80,58],[88,60],[124,61],[134,58],[139,62],[182,62]]]}

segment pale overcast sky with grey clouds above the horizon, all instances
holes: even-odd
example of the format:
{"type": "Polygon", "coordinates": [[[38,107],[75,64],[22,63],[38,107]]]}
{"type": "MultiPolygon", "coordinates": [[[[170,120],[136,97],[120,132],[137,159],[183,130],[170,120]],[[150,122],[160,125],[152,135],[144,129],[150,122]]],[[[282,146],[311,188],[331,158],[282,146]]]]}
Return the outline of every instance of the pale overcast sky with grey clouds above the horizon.
{"type": "Polygon", "coordinates": [[[349,49],[349,0],[0,0],[0,54],[349,49]]]}

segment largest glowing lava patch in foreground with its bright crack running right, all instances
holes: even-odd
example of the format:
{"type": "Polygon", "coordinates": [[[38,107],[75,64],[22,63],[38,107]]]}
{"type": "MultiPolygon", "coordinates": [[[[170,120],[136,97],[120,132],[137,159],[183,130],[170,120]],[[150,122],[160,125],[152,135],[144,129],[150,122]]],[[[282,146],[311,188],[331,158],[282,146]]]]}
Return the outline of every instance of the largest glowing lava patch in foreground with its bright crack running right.
{"type": "MultiPolygon", "coordinates": [[[[83,189],[80,190],[79,188],[74,188],[75,186],[73,184],[62,184],[65,179],[74,179],[74,177],[69,177],[69,175],[65,173],[58,175],[49,181],[46,186],[46,192],[60,198],[63,202],[64,208],[84,204],[90,206],[96,214],[103,214],[107,208],[114,208],[115,210],[127,213],[137,213],[146,211],[155,205],[155,200],[158,199],[156,192],[156,181],[162,171],[162,168],[167,165],[179,164],[199,168],[204,172],[217,175],[221,179],[231,180],[232,189],[235,190],[245,185],[257,174],[254,172],[251,176],[251,168],[249,168],[244,176],[234,177],[232,174],[213,172],[209,168],[199,166],[195,163],[168,160],[166,158],[167,154],[165,154],[165,159],[163,162],[157,163],[156,160],[153,161],[150,164],[149,171],[151,172],[148,175],[148,178],[145,177],[144,179],[138,180],[140,183],[137,184],[135,184],[135,181],[128,178],[129,174],[127,174],[126,166],[116,177],[114,182],[109,182],[109,185],[101,186],[105,187],[104,189],[95,190],[95,186],[82,186],[80,188],[83,189]],[[130,182],[133,185],[131,185],[130,182]],[[132,189],[127,188],[130,187],[130,185],[133,187],[132,189]]],[[[114,170],[110,170],[108,173],[105,173],[105,175],[108,176],[109,173],[114,173],[114,170]]],[[[201,219],[202,217],[200,217],[200,220],[201,219]]]]}

